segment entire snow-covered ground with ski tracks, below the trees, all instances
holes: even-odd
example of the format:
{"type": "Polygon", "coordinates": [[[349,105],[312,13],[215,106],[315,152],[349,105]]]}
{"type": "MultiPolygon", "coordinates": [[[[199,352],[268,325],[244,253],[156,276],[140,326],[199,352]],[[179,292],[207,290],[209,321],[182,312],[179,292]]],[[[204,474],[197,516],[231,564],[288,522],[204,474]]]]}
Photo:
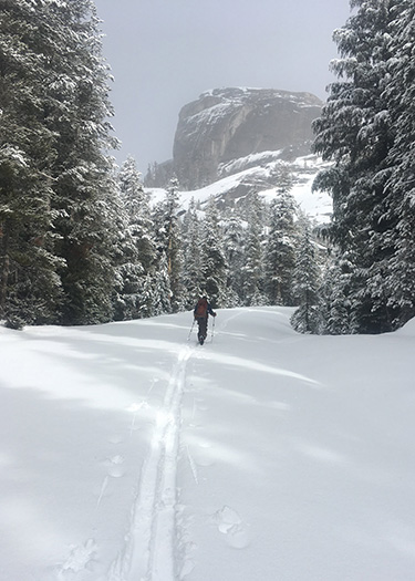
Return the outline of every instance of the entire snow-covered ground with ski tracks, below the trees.
{"type": "Polygon", "coordinates": [[[1,581],[415,579],[415,322],[0,329],[1,581]]]}

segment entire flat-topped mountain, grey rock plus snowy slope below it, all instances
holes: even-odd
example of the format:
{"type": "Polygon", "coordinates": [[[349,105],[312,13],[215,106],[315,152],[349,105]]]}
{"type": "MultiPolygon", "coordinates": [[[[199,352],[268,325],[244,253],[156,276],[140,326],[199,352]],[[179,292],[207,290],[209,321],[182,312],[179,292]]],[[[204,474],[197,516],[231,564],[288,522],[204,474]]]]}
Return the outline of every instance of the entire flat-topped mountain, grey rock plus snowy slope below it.
{"type": "Polygon", "coordinates": [[[155,164],[145,185],[166,188],[178,179],[183,203],[210,196],[220,205],[243,204],[251,193],[276,195],[289,176],[304,211],[319,221],[331,214],[328,196],[311,194],[322,162],[311,152],[312,121],[322,102],[310,93],[227,87],[203,93],[184,105],[174,139],[174,157],[155,164]]]}

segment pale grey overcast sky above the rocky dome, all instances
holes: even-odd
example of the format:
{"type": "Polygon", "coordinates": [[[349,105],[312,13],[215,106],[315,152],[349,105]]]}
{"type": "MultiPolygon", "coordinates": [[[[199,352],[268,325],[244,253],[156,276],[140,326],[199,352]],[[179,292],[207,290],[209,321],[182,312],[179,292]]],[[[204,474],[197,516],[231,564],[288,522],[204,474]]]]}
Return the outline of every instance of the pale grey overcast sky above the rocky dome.
{"type": "Polygon", "coordinates": [[[325,100],[349,0],[95,0],[114,75],[120,163],[165,162],[183,105],[209,89],[307,91],[325,100]]]}

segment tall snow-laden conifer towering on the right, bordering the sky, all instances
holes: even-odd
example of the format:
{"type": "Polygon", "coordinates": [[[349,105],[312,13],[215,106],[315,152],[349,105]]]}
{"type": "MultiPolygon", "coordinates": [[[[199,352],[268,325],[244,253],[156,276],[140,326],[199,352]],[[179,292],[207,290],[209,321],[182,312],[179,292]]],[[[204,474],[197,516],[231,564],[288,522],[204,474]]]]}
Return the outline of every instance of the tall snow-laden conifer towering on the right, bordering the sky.
{"type": "Polygon", "coordinates": [[[401,2],[354,0],[352,6],[356,14],[334,34],[341,59],[332,66],[341,80],[331,85],[314,124],[314,148],[334,165],[318,176],[314,189],[332,194],[332,238],[341,253],[353,257],[350,331],[357,324],[359,332],[382,332],[397,317],[390,272],[400,245],[398,214],[387,195],[396,128],[386,93],[401,2]]]}

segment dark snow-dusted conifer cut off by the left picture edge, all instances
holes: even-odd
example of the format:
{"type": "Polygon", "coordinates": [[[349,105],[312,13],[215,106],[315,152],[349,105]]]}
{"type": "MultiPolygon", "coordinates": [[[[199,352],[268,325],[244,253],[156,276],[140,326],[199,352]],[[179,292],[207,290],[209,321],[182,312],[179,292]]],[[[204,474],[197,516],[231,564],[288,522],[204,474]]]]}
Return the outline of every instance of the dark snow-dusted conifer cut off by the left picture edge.
{"type": "Polygon", "coordinates": [[[54,256],[55,157],[44,7],[3,1],[0,18],[0,318],[11,326],[56,322],[62,298],[54,256]]]}

